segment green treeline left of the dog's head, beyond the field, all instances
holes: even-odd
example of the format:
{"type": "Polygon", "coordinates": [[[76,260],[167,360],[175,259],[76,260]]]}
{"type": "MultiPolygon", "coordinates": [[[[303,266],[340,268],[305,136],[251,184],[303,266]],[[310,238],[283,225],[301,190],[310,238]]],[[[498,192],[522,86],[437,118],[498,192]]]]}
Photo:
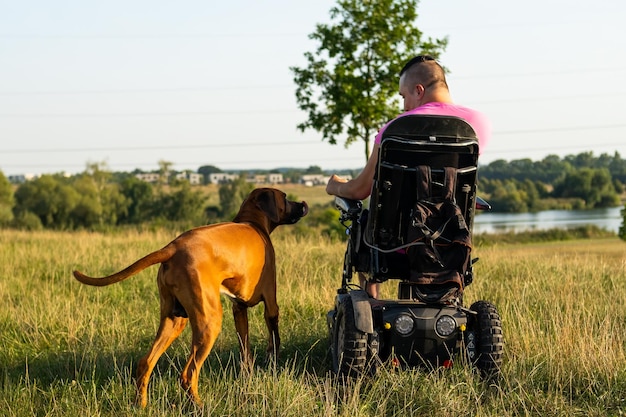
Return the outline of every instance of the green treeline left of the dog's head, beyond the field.
{"type": "Polygon", "coordinates": [[[207,205],[205,187],[186,180],[151,184],[132,174],[89,167],[84,173],[48,174],[15,187],[0,172],[0,227],[28,230],[106,230],[124,225],[189,228],[230,219],[254,188],[242,176],[218,188],[207,205]]]}

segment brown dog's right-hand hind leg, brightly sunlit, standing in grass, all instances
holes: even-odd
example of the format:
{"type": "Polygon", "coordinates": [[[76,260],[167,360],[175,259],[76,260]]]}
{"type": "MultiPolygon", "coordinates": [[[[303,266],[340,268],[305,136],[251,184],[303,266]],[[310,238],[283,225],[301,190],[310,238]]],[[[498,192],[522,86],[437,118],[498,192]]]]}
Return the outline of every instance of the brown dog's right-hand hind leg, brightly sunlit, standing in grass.
{"type": "Polygon", "coordinates": [[[196,404],[202,404],[198,395],[200,369],[222,329],[222,304],[219,295],[217,296],[217,303],[210,304],[210,306],[195,310],[193,313],[187,311],[192,329],[191,355],[180,376],[180,383],[196,404]]]}

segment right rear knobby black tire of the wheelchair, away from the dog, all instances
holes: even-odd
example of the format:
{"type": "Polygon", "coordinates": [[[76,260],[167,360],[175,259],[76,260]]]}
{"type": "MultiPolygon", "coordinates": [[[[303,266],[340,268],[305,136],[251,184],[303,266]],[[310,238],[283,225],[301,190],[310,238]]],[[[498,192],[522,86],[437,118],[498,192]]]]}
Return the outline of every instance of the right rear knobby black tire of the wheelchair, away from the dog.
{"type": "MultiPolygon", "coordinates": [[[[474,334],[476,354],[470,358],[481,377],[494,380],[500,376],[504,353],[502,321],[496,307],[487,301],[476,301],[470,307],[476,315],[469,317],[469,330],[474,334]]],[[[467,341],[466,341],[467,342],[467,341]]]]}

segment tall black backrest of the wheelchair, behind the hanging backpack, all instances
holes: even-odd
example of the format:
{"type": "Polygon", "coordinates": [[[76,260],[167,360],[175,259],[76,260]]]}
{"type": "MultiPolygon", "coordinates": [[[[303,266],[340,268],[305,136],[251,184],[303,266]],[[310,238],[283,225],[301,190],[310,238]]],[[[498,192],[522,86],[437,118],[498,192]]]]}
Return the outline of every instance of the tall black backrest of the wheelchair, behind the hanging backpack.
{"type": "Polygon", "coordinates": [[[444,199],[450,190],[471,231],[478,151],[476,133],[458,117],[410,115],[389,124],[378,154],[366,244],[391,252],[410,243],[407,231],[416,202],[444,199]]]}

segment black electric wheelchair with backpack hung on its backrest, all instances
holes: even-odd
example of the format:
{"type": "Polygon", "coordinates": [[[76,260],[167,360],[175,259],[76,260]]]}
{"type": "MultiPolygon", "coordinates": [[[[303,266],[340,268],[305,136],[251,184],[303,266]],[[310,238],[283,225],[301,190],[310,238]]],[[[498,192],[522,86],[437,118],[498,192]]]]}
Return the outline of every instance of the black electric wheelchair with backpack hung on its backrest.
{"type": "Polygon", "coordinates": [[[487,301],[463,305],[473,280],[471,231],[478,141],[464,120],[411,115],[381,140],[369,209],[335,198],[348,234],[341,287],[327,314],[332,368],[371,375],[384,363],[429,369],[471,364],[497,378],[503,360],[500,315],[487,301]],[[398,280],[397,299],[374,299],[357,284],[398,280]]]}

